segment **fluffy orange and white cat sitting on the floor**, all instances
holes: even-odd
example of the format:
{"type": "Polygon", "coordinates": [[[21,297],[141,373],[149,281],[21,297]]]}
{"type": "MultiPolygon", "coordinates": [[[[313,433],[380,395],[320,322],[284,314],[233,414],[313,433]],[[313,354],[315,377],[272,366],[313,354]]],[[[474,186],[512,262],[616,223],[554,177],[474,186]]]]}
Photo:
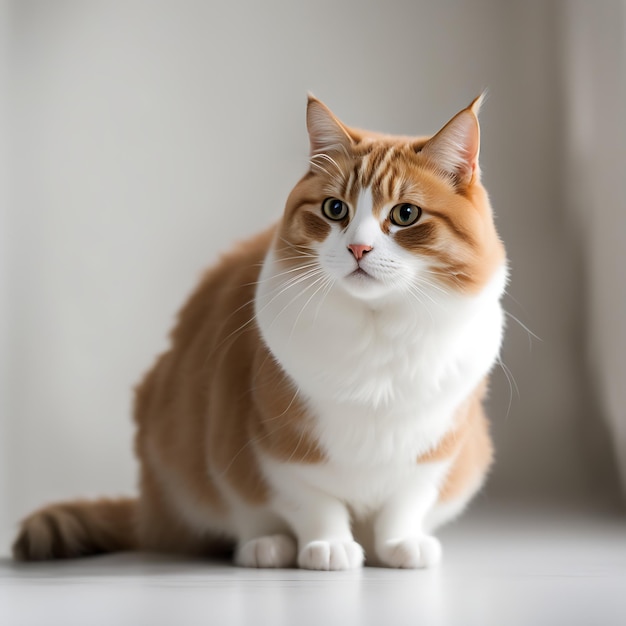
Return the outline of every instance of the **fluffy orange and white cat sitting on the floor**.
{"type": "Polygon", "coordinates": [[[282,219],[179,313],[137,386],[137,499],[51,505],[16,559],[228,549],[246,567],[435,565],[432,534],[492,462],[503,244],[480,180],[482,96],[430,138],[309,96],[282,219]]]}

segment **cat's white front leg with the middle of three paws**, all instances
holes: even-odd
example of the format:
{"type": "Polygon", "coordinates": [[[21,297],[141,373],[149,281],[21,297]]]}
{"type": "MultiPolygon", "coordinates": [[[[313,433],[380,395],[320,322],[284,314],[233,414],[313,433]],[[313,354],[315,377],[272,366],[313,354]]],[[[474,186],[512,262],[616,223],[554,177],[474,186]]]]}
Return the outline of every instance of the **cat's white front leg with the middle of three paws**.
{"type": "Polygon", "coordinates": [[[346,506],[317,490],[298,491],[297,496],[280,497],[275,503],[298,539],[298,565],[316,570],[361,567],[363,548],[352,537],[346,506]]]}

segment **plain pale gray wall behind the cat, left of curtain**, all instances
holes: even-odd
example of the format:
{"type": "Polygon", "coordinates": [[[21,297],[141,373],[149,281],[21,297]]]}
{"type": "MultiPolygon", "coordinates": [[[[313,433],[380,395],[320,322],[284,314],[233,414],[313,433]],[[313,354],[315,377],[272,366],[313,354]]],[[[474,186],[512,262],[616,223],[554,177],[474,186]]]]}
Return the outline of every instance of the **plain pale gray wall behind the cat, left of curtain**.
{"type": "Polygon", "coordinates": [[[133,490],[131,386],[201,268],[279,215],[306,167],[308,90],[347,123],[426,134],[489,88],[481,156],[511,260],[505,306],[542,338],[510,322],[519,394],[498,370],[489,493],[602,484],[560,166],[559,3],[11,6],[0,537],[44,501],[133,490]]]}

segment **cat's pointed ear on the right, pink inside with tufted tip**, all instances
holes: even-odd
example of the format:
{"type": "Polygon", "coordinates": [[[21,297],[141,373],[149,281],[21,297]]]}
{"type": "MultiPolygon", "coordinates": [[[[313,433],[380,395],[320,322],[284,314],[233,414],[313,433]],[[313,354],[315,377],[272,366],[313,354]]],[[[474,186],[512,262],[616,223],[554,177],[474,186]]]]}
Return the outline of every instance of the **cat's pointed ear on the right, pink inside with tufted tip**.
{"type": "Polygon", "coordinates": [[[484,94],[481,94],[466,109],[457,113],[420,151],[451,176],[459,187],[467,187],[480,177],[478,111],[483,99],[484,94]]]}

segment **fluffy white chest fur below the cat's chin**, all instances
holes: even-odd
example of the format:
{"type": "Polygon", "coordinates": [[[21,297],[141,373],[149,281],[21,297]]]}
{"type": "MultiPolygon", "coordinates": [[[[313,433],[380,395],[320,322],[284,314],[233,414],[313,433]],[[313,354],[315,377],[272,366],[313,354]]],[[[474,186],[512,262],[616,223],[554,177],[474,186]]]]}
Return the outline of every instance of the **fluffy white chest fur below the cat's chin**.
{"type": "Polygon", "coordinates": [[[306,398],[330,465],[361,481],[413,468],[497,358],[504,268],[478,296],[435,292],[421,304],[397,297],[378,306],[341,286],[318,289],[315,278],[281,290],[280,271],[270,253],[257,320],[306,398]]]}

